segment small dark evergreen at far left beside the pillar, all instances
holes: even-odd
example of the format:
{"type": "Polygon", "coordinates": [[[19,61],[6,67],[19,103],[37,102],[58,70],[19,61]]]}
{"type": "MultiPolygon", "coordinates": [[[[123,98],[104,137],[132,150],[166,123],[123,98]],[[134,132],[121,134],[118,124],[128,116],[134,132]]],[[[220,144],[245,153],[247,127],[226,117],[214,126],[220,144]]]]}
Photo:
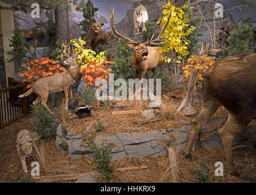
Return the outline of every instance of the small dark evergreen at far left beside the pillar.
{"type": "Polygon", "coordinates": [[[25,48],[25,41],[21,37],[19,29],[13,31],[13,36],[9,39],[9,46],[12,50],[8,51],[6,54],[10,56],[7,59],[8,63],[15,63],[15,73],[20,69],[20,65],[25,62],[26,52],[28,51],[25,48]]]}

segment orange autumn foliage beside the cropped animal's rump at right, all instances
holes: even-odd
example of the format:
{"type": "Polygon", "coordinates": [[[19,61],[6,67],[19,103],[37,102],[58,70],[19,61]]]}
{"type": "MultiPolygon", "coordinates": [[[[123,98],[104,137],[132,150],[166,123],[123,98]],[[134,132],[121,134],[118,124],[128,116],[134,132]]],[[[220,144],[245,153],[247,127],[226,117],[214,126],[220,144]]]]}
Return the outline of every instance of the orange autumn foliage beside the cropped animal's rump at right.
{"type": "Polygon", "coordinates": [[[201,83],[203,80],[203,74],[205,74],[207,69],[215,63],[215,60],[207,55],[191,55],[187,62],[188,64],[183,68],[185,74],[179,80],[188,83],[191,73],[197,70],[199,73],[197,82],[201,83]]]}

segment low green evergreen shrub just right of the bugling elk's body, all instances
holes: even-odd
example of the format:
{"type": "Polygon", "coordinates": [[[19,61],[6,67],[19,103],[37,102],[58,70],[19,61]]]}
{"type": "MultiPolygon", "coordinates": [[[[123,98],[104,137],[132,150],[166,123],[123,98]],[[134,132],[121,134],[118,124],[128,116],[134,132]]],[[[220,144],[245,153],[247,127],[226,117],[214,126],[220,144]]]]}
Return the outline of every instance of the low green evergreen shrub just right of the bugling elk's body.
{"type": "Polygon", "coordinates": [[[154,71],[154,79],[161,79],[162,94],[171,90],[171,76],[167,68],[161,69],[157,67],[154,71]]]}

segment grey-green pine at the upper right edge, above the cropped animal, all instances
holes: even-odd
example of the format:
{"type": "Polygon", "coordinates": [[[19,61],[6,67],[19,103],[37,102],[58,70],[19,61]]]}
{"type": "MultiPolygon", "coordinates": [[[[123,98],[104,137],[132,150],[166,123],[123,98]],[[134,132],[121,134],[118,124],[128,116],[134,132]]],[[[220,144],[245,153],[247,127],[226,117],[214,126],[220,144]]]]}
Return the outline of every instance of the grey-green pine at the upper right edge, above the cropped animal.
{"type": "Polygon", "coordinates": [[[238,27],[238,29],[230,32],[230,37],[227,39],[227,49],[225,49],[225,56],[246,54],[253,52],[249,49],[249,43],[254,41],[254,27],[251,23],[251,18],[247,18],[238,27]]]}

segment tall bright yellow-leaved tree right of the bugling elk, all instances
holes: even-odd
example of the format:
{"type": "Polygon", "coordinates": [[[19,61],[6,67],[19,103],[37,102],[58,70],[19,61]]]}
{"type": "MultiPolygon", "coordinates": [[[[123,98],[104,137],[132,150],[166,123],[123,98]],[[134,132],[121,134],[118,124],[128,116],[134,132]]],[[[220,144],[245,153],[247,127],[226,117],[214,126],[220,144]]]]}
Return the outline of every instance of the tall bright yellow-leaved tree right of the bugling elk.
{"type": "Polygon", "coordinates": [[[164,34],[160,38],[165,39],[165,45],[163,48],[159,50],[159,52],[167,52],[171,53],[171,57],[165,57],[165,62],[170,63],[173,61],[175,65],[175,78],[176,78],[176,86],[178,85],[178,74],[179,74],[179,65],[184,56],[189,55],[189,51],[187,49],[187,45],[190,43],[187,40],[187,36],[189,36],[193,30],[194,26],[190,26],[188,15],[184,13],[183,9],[188,7],[188,5],[183,5],[182,7],[175,7],[171,5],[171,1],[168,0],[167,4],[163,5],[161,9],[163,9],[163,15],[157,21],[157,24],[165,24],[168,21],[168,17],[170,16],[170,21],[168,26],[166,27],[164,34]],[[178,66],[176,65],[178,63],[178,66]]]}

